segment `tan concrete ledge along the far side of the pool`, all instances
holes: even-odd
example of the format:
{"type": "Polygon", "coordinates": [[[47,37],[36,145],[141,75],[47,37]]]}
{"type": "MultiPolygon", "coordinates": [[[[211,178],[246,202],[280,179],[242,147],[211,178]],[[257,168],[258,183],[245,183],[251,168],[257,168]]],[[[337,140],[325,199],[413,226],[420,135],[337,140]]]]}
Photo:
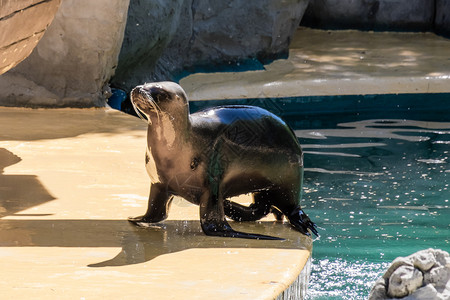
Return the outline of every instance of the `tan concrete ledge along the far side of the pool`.
{"type": "Polygon", "coordinates": [[[197,73],[180,83],[190,100],[449,93],[449,48],[432,33],[300,28],[288,59],[265,70],[197,73]]]}

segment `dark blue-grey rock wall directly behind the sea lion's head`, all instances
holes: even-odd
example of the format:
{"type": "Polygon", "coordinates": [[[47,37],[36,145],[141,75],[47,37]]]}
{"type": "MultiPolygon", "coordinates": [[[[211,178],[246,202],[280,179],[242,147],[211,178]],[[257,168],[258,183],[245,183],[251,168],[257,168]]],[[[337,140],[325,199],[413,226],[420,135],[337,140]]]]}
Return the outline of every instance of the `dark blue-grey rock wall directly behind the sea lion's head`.
{"type": "Polygon", "coordinates": [[[286,53],[309,0],[131,0],[115,85],[286,53]]]}

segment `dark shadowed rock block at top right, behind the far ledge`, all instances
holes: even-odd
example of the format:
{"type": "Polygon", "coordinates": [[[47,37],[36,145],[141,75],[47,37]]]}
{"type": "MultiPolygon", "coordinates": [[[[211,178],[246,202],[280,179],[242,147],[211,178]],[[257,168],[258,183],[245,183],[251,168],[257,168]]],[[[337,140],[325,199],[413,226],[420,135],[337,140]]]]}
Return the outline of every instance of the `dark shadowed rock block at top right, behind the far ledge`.
{"type": "Polygon", "coordinates": [[[315,0],[302,21],[319,28],[428,31],[434,9],[434,1],[423,0],[315,0]]]}

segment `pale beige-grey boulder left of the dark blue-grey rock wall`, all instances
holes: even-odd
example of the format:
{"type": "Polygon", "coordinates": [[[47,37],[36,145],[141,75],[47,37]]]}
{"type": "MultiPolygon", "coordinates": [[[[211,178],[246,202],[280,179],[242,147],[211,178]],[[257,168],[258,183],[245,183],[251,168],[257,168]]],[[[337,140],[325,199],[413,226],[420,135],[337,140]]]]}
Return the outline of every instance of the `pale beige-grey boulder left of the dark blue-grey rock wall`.
{"type": "Polygon", "coordinates": [[[103,106],[128,1],[64,0],[41,42],[0,77],[0,105],[103,106]]]}

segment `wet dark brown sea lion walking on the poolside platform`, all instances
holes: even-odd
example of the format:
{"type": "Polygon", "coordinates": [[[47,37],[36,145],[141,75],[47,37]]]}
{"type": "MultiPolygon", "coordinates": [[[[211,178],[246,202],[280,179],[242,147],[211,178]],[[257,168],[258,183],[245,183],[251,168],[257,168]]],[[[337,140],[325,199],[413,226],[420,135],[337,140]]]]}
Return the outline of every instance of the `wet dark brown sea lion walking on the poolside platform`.
{"type": "Polygon", "coordinates": [[[148,120],[145,165],[151,179],[145,215],[137,225],[167,217],[174,195],[200,206],[203,232],[211,236],[279,239],[237,232],[225,216],[254,221],[271,210],[303,234],[318,235],[300,207],[303,153],[279,117],[253,106],[219,106],[189,114],[184,90],[174,82],[146,83],[131,101],[148,120]],[[252,193],[244,206],[230,197],[252,193]]]}

